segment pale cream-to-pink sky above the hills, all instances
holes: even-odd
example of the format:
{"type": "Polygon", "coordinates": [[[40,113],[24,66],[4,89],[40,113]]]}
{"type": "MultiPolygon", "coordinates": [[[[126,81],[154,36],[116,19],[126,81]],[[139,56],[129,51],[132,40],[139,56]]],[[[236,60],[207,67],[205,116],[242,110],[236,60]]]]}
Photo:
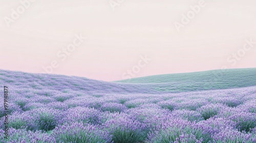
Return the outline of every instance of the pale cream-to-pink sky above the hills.
{"type": "Polygon", "coordinates": [[[8,28],[5,17],[22,4],[1,1],[0,69],[41,73],[56,61],[52,74],[115,81],[223,66],[256,67],[256,43],[245,45],[246,39],[256,42],[253,0],[205,0],[205,7],[180,32],[174,22],[181,22],[182,14],[199,1],[124,0],[114,11],[109,2],[37,0],[8,28]],[[61,50],[73,40],[80,43],[76,34],[87,39],[61,58],[61,50]],[[245,53],[244,45],[250,46],[245,53]],[[236,59],[232,54],[237,52],[242,56],[236,59]],[[150,61],[140,62],[141,56],[150,61]]]}

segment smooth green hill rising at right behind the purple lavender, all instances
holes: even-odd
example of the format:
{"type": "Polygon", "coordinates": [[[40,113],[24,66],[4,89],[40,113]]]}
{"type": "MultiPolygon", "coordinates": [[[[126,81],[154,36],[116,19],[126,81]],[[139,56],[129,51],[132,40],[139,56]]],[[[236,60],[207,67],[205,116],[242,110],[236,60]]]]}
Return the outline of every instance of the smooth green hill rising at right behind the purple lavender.
{"type": "MultiPolygon", "coordinates": [[[[130,80],[115,81],[119,83],[165,83],[175,84],[177,88],[196,89],[226,89],[256,85],[256,68],[209,70],[194,73],[155,75],[130,80]]],[[[168,90],[163,87],[160,90],[168,90]]]]}

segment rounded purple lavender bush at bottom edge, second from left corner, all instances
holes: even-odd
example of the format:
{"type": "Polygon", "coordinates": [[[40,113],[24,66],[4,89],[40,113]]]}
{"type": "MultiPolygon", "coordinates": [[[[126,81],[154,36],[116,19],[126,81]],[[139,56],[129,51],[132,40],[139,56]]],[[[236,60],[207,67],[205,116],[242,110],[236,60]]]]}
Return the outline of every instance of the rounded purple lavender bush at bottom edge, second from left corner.
{"type": "Polygon", "coordinates": [[[112,142],[112,136],[98,127],[83,123],[65,123],[57,126],[51,133],[56,142],[76,143],[107,143],[112,142]]]}

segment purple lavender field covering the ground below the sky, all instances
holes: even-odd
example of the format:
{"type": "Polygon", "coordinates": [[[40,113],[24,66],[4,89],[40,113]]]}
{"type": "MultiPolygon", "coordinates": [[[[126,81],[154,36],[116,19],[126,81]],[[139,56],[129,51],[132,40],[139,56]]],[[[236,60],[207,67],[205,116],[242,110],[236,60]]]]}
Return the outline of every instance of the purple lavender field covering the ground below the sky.
{"type": "Polygon", "coordinates": [[[237,72],[124,83],[0,70],[0,142],[256,142],[255,69],[237,72]]]}

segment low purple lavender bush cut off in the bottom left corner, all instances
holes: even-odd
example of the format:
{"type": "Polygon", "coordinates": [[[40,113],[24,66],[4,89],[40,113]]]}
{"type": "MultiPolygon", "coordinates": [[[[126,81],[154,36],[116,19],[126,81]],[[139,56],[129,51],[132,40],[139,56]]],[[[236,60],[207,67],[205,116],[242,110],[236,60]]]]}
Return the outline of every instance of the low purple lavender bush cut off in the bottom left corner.
{"type": "Polygon", "coordinates": [[[26,129],[9,129],[9,138],[4,138],[4,130],[0,129],[0,141],[6,143],[56,143],[55,138],[41,131],[27,131],[26,129]]]}

